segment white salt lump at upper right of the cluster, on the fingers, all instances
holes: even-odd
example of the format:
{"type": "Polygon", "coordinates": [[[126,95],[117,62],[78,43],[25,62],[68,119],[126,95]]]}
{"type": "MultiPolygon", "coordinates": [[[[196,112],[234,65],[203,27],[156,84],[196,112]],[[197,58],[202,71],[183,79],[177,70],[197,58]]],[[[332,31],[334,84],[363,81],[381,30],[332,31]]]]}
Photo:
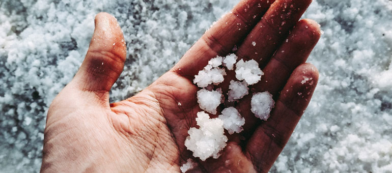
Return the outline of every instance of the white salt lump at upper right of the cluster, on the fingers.
{"type": "Polygon", "coordinates": [[[257,83],[264,75],[259,68],[259,63],[255,60],[244,62],[242,59],[236,64],[236,77],[238,80],[245,80],[249,85],[257,83]]]}

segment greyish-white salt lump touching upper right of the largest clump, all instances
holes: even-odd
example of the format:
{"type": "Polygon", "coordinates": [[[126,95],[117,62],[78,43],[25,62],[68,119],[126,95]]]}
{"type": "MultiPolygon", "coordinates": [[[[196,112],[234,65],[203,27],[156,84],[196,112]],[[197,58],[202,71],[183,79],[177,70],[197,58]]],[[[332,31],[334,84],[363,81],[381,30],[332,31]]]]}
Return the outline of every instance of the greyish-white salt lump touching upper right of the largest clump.
{"type": "Polygon", "coordinates": [[[229,134],[239,133],[243,130],[242,126],[245,124],[245,119],[234,107],[223,109],[218,118],[223,121],[223,128],[228,130],[229,134]]]}

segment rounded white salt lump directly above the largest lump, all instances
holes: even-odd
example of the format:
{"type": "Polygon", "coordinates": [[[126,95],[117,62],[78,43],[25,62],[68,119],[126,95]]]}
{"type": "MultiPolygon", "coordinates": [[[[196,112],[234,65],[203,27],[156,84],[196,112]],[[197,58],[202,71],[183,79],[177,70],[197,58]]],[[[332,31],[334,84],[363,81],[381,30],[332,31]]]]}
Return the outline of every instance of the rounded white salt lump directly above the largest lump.
{"type": "Polygon", "coordinates": [[[218,107],[220,103],[223,103],[223,101],[224,97],[221,89],[217,89],[216,91],[202,89],[198,91],[199,106],[207,112],[216,114],[216,107],[218,107]]]}

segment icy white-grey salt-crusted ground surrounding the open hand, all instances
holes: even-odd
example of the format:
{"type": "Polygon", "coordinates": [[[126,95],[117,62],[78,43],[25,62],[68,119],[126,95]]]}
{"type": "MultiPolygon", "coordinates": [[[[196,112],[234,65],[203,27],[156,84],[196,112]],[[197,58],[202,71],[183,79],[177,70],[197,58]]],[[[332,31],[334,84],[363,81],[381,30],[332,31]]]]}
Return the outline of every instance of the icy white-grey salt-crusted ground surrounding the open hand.
{"type": "MultiPolygon", "coordinates": [[[[118,101],[171,68],[237,2],[2,0],[0,172],[39,171],[45,112],[81,64],[96,13],[114,14],[128,43],[118,101]]],[[[392,2],[314,0],[304,18],[324,31],[309,60],[319,85],[270,172],[388,172],[392,2]]]]}

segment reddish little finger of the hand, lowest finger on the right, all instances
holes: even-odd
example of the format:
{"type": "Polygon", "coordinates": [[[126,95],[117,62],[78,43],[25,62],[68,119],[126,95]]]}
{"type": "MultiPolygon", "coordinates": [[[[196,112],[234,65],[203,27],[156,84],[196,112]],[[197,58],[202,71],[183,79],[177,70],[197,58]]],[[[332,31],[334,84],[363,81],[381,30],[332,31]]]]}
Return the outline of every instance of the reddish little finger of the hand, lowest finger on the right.
{"type": "Polygon", "coordinates": [[[294,131],[316,88],[319,73],[311,64],[297,67],[276,101],[268,121],[248,140],[245,154],[258,172],[268,172],[294,131]]]}

